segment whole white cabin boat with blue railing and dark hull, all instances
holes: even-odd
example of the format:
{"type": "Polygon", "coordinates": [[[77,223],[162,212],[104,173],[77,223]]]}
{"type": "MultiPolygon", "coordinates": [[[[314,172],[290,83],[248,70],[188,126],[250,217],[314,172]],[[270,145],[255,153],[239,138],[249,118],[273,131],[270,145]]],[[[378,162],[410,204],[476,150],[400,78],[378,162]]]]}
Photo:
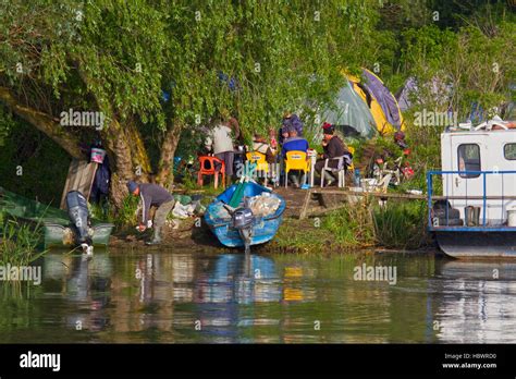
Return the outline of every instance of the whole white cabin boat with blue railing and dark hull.
{"type": "Polygon", "coordinates": [[[455,258],[516,258],[516,223],[511,212],[516,205],[511,155],[516,130],[494,130],[489,124],[484,123],[484,130],[442,133],[442,171],[427,172],[428,230],[440,248],[455,258]],[[434,181],[440,179],[442,194],[435,194],[434,181]],[[449,201],[444,213],[437,213],[437,199],[449,201]]]}

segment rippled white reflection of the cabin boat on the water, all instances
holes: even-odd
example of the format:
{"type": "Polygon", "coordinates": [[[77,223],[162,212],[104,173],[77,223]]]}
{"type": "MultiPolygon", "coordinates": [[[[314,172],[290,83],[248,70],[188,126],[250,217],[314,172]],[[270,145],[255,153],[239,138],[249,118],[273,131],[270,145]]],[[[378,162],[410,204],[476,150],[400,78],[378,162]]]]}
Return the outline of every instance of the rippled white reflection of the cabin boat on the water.
{"type": "Polygon", "coordinates": [[[440,340],[509,343],[516,340],[516,262],[447,261],[439,267],[440,340]]]}

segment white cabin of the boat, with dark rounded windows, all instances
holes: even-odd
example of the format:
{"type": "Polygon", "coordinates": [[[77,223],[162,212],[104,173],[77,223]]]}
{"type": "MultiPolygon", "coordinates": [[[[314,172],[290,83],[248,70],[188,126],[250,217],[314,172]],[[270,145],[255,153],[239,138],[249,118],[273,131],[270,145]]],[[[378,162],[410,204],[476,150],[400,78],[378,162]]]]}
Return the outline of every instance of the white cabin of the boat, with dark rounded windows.
{"type": "Polygon", "coordinates": [[[472,206],[477,225],[507,224],[507,211],[516,212],[516,129],[442,133],[441,161],[442,194],[460,219],[472,206]]]}

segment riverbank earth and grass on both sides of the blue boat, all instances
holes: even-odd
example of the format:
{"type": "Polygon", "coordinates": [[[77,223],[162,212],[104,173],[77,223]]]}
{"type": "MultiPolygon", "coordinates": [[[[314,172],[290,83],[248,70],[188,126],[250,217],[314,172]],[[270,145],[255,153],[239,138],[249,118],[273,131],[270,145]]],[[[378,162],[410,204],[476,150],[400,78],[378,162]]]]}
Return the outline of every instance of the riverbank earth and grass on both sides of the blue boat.
{"type": "MultiPolygon", "coordinates": [[[[274,239],[254,248],[261,252],[296,254],[356,252],[357,249],[419,250],[433,248],[426,231],[423,201],[388,201],[380,206],[372,200],[346,204],[339,210],[299,220],[285,216],[274,239]]],[[[151,230],[144,233],[124,227],[113,233],[110,247],[140,248],[150,240],[151,230]]],[[[160,246],[218,247],[225,249],[201,218],[171,220],[163,229],[160,246]]]]}

